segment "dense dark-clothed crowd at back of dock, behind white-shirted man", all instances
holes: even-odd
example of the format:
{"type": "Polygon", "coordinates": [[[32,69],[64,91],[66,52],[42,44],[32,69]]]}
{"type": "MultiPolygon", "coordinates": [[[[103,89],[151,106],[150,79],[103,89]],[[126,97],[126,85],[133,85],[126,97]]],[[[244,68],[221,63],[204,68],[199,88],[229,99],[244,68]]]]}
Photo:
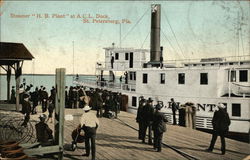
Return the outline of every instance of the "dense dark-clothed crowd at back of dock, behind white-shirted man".
{"type": "MultiPolygon", "coordinates": [[[[48,120],[52,121],[52,113],[55,108],[56,89],[54,86],[47,92],[46,87],[36,87],[31,91],[33,85],[20,85],[19,101],[22,104],[22,113],[25,115],[23,126],[27,125],[30,114],[37,114],[37,106],[40,105],[42,113],[48,111],[48,120]]],[[[15,89],[12,87],[11,103],[15,103],[15,89]]],[[[97,111],[97,117],[117,118],[122,105],[122,95],[103,89],[85,88],[83,86],[65,87],[65,108],[83,108],[88,104],[97,111]]]]}

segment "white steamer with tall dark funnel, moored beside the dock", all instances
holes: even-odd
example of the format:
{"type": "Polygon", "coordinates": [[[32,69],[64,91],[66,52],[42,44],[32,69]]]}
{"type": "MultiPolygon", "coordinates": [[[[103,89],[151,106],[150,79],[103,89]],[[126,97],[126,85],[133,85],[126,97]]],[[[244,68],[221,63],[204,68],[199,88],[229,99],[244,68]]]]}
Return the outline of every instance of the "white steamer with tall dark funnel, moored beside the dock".
{"type": "MultiPolygon", "coordinates": [[[[161,109],[173,121],[170,99],[178,105],[186,102],[196,107],[196,128],[212,130],[216,105],[227,107],[231,119],[230,133],[250,132],[250,60],[237,57],[207,58],[188,62],[162,62],[160,46],[161,6],[152,5],[150,49],[104,48],[105,62],[96,64],[96,81],[81,81],[84,86],[121,92],[128,97],[127,111],[136,113],[139,97],[162,101],[161,109]],[[111,59],[113,57],[113,62],[111,59]],[[127,80],[115,82],[115,73],[127,73],[127,80]],[[109,79],[104,80],[103,75],[109,79]]],[[[178,114],[177,114],[178,121],[178,114]]]]}

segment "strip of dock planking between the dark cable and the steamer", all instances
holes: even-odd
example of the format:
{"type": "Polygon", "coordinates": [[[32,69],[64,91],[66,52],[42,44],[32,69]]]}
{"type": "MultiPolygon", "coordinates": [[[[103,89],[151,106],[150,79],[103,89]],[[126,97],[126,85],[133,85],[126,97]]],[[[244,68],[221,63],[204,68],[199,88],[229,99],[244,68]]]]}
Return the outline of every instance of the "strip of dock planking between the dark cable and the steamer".
{"type": "MultiPolygon", "coordinates": [[[[138,128],[135,122],[135,115],[121,112],[119,119],[127,124],[138,128]]],[[[209,133],[193,130],[176,125],[167,125],[167,132],[164,134],[163,143],[173,146],[197,159],[243,159],[250,155],[250,144],[226,138],[226,154],[221,155],[220,137],[217,138],[213,152],[206,152],[212,135],[209,133]]]]}

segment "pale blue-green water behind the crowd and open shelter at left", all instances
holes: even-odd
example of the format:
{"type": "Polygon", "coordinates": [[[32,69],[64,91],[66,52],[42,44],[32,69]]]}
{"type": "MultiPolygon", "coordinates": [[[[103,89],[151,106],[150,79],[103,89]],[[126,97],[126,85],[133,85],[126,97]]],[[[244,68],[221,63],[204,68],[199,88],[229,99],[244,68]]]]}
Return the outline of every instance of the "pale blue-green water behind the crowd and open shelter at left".
{"type": "MultiPolygon", "coordinates": [[[[73,79],[75,78],[75,75],[66,75],[66,86],[73,86],[73,79]]],[[[26,81],[26,85],[32,84],[33,87],[31,88],[31,91],[35,90],[35,88],[38,86],[44,86],[46,87],[47,92],[50,91],[52,86],[55,86],[55,75],[32,75],[32,74],[24,74],[20,78],[20,84],[24,82],[24,79],[26,81]]],[[[91,80],[95,81],[96,76],[95,75],[79,75],[79,80],[91,80]]],[[[15,76],[11,76],[10,81],[10,89],[12,86],[16,86],[15,82],[15,76]]],[[[49,92],[50,93],[50,92],[49,92]]],[[[1,74],[0,75],[0,100],[6,100],[7,99],[7,76],[1,74]]]]}

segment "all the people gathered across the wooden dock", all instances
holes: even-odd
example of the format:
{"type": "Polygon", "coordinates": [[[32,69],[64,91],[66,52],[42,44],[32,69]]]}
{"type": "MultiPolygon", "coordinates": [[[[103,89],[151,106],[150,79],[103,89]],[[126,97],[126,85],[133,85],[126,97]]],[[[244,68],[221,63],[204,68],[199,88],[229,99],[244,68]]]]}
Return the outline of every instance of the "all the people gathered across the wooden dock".
{"type": "MultiPolygon", "coordinates": [[[[27,126],[30,114],[37,114],[36,107],[41,105],[43,114],[39,117],[40,122],[36,125],[36,130],[39,131],[41,128],[46,128],[46,130],[48,130],[48,135],[45,136],[45,140],[43,139],[44,135],[39,135],[39,133],[37,133],[37,137],[41,142],[48,141],[49,137],[51,138],[52,131],[46,123],[49,119],[52,122],[52,113],[55,108],[56,100],[56,89],[52,86],[49,94],[43,86],[40,86],[39,89],[36,87],[33,92],[31,91],[32,87],[32,85],[29,85],[26,88],[20,86],[20,103],[22,104],[21,112],[24,114],[24,122],[22,123],[22,126],[27,126]],[[49,113],[48,119],[46,114],[44,114],[47,110],[49,113]],[[47,121],[45,121],[45,119],[47,119],[47,121]]],[[[12,91],[12,94],[14,94],[13,92],[14,91],[12,91]]],[[[11,100],[13,99],[15,99],[15,97],[14,95],[11,95],[11,100]]],[[[157,104],[153,105],[152,98],[145,99],[141,96],[139,98],[139,107],[136,116],[136,122],[139,125],[138,139],[140,139],[142,143],[146,143],[146,132],[148,131],[147,143],[153,145],[153,148],[157,152],[161,152],[163,133],[167,130],[166,123],[168,122],[168,119],[162,112],[160,112],[163,106],[163,102],[161,101],[157,101],[157,104]]],[[[83,108],[86,112],[80,119],[80,129],[83,129],[85,132],[86,154],[84,154],[84,156],[89,156],[91,142],[91,153],[92,157],[95,158],[95,136],[96,130],[99,126],[99,120],[97,117],[117,118],[122,107],[121,93],[98,88],[86,89],[83,86],[71,86],[69,90],[68,87],[65,87],[65,107],[72,109],[83,108]],[[96,115],[93,115],[93,112],[89,112],[91,109],[97,111],[96,115]]],[[[177,125],[176,112],[178,112],[178,124],[180,126],[195,128],[196,109],[193,103],[187,102],[183,105],[177,105],[174,99],[171,98],[170,107],[173,113],[173,125],[177,125]]],[[[220,136],[222,143],[221,151],[222,154],[225,154],[225,135],[228,132],[230,119],[223,104],[219,103],[218,108],[219,110],[215,111],[212,119],[214,127],[213,137],[210,146],[206,151],[211,152],[213,150],[217,136],[220,136]]],[[[44,131],[44,129],[42,129],[42,131],[44,131]]]]}

